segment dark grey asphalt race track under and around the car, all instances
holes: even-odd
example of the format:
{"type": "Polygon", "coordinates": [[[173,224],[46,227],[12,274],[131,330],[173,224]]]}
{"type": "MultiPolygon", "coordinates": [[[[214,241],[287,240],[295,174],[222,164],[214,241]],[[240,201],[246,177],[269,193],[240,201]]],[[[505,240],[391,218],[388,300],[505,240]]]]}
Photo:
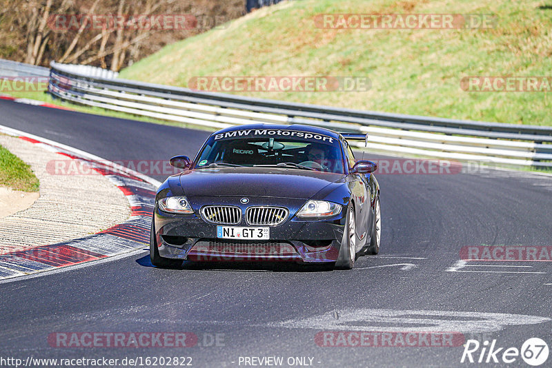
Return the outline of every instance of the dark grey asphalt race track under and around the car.
{"type": "MultiPolygon", "coordinates": [[[[10,101],[0,101],[0,112],[1,125],[114,161],[193,156],[208,136],[10,101]]],[[[0,356],[191,357],[195,367],[244,367],[244,357],[275,356],[283,367],[451,367],[469,365],[460,362],[462,343],[332,347],[315,337],[448,331],[504,349],[520,349],[532,337],[551,343],[551,263],[460,260],[466,246],[552,245],[551,176],[488,170],[377,178],[382,249],[359,258],[352,271],[281,264],[157,269],[144,252],[0,283],[0,356]],[[48,342],[59,332],[143,331],[190,332],[198,340],[184,348],[48,342]]],[[[520,365],[527,366],[518,356],[511,366],[520,365]]]]}

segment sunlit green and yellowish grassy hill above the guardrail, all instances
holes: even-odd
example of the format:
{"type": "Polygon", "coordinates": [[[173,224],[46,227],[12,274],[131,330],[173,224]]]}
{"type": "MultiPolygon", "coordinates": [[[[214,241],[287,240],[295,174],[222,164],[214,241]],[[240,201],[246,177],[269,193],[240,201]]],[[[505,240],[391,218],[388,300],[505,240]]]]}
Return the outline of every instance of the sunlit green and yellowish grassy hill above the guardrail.
{"type": "Polygon", "coordinates": [[[465,92],[465,76],[552,76],[544,1],[302,0],[172,43],[121,77],[188,87],[194,76],[368,76],[366,92],[250,92],[267,99],[457,119],[552,125],[552,94],[465,92]],[[321,13],[495,14],[489,29],[336,30],[321,13]]]}

